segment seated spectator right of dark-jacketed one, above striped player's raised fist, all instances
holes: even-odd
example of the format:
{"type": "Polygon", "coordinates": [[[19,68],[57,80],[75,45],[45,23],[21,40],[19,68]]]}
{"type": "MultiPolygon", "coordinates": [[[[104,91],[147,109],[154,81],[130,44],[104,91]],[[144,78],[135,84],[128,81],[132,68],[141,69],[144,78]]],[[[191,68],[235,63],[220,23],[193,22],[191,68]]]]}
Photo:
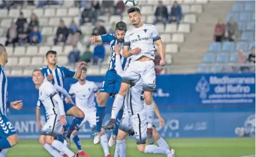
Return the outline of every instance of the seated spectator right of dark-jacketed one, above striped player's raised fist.
{"type": "Polygon", "coordinates": [[[68,45],[76,45],[80,39],[80,35],[82,34],[81,30],[78,28],[77,24],[74,20],[71,21],[69,35],[67,39],[68,45]]]}

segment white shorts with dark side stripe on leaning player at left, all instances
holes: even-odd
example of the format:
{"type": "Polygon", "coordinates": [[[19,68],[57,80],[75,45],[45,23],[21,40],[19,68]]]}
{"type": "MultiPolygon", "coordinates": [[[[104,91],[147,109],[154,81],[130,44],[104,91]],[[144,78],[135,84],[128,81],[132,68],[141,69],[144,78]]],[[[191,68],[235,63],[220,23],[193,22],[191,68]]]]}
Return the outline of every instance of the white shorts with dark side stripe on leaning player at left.
{"type": "Polygon", "coordinates": [[[55,136],[55,137],[60,135],[63,126],[59,121],[59,117],[60,117],[60,114],[51,115],[42,129],[41,135],[48,135],[48,136],[55,136]]]}

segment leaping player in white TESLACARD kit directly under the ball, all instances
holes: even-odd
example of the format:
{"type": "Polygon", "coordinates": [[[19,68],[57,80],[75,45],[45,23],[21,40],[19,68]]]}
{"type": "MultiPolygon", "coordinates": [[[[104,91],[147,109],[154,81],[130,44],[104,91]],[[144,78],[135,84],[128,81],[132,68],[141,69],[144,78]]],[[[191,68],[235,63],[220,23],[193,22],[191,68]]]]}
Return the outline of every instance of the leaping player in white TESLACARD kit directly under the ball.
{"type": "Polygon", "coordinates": [[[114,129],[115,119],[118,111],[122,108],[124,96],[130,87],[142,78],[143,91],[145,97],[145,109],[148,119],[147,139],[149,144],[154,143],[153,138],[153,121],[154,121],[154,105],[152,92],[156,90],[155,86],[155,70],[154,70],[154,42],[158,47],[161,55],[160,65],[165,65],[165,48],[161,37],[154,25],[144,24],[141,22],[140,10],[136,7],[127,11],[130,21],[134,25],[133,29],[126,32],[124,36],[123,57],[130,57],[131,63],[126,69],[122,83],[117,94],[111,112],[111,120],[106,126],[108,129],[114,129]]]}

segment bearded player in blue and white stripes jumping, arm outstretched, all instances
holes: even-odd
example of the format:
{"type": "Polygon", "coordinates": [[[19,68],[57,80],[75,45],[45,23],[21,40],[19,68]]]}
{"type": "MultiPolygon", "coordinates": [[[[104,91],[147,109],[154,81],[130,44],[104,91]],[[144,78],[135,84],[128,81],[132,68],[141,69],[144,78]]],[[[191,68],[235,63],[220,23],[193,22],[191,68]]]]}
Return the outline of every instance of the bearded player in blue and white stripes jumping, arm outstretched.
{"type": "MultiPolygon", "coordinates": [[[[98,107],[97,107],[97,112],[96,112],[96,118],[97,118],[97,125],[95,129],[95,134],[94,134],[94,140],[93,143],[97,144],[100,142],[100,137],[101,137],[101,128],[102,128],[102,123],[103,119],[105,116],[106,112],[106,102],[110,96],[114,96],[115,94],[118,93],[120,89],[120,84],[121,84],[121,77],[116,73],[116,65],[115,65],[115,52],[114,52],[114,46],[115,45],[120,45],[120,47],[123,47],[123,41],[124,41],[124,35],[126,32],[126,24],[124,22],[118,22],[115,27],[115,34],[105,34],[105,35],[99,35],[99,36],[91,36],[90,37],[90,42],[94,43],[95,41],[101,41],[101,42],[106,42],[110,44],[110,50],[111,50],[111,59],[110,59],[110,64],[109,64],[109,69],[106,72],[104,81],[102,83],[102,87],[100,89],[100,94],[99,94],[99,99],[98,99],[98,107]]],[[[122,52],[120,55],[120,60],[122,64],[122,68],[125,67],[126,64],[129,63],[129,59],[123,58],[122,57],[122,52]]],[[[116,140],[116,135],[118,132],[118,126],[121,122],[122,119],[122,114],[123,110],[119,109],[118,110],[118,115],[116,117],[116,122],[115,122],[115,129],[113,133],[111,134],[111,138],[109,140],[109,145],[112,145],[111,143],[115,142],[116,140]]]]}

